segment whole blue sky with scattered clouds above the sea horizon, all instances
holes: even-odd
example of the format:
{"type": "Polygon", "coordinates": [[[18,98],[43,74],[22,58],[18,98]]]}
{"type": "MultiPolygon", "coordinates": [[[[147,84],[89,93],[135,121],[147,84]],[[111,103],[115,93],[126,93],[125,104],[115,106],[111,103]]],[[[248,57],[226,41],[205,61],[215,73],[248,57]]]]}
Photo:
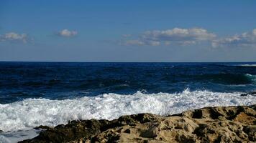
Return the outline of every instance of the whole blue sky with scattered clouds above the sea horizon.
{"type": "Polygon", "coordinates": [[[0,0],[0,61],[256,61],[254,0],[0,0]]]}

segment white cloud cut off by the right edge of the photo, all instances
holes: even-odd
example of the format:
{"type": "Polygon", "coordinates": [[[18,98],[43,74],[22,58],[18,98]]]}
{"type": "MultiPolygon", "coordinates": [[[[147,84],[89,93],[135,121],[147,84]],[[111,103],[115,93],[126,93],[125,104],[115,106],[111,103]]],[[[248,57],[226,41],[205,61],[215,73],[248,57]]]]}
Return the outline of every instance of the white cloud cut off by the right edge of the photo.
{"type": "Polygon", "coordinates": [[[213,47],[256,47],[256,29],[212,41],[213,47]]]}

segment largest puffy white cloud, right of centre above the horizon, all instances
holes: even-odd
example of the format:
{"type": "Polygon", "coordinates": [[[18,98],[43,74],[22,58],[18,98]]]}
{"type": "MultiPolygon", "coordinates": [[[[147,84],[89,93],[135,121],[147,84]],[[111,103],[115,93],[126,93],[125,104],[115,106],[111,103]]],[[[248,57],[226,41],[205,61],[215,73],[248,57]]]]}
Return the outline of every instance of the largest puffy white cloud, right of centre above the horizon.
{"type": "Polygon", "coordinates": [[[216,35],[209,33],[206,29],[167,29],[167,30],[154,30],[145,31],[145,33],[140,35],[140,38],[127,40],[125,43],[127,45],[150,45],[158,46],[160,44],[196,44],[200,41],[210,41],[215,39],[216,35]]]}

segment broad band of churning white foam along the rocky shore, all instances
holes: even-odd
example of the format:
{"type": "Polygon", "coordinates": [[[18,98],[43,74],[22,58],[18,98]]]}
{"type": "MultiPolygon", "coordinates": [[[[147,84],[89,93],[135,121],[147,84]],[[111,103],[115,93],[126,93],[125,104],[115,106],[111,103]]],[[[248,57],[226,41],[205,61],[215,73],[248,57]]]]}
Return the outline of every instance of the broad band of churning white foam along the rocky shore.
{"type": "Polygon", "coordinates": [[[186,89],[178,94],[137,92],[65,100],[24,99],[0,104],[0,129],[15,132],[40,125],[66,124],[73,119],[116,119],[124,114],[145,112],[165,115],[209,106],[256,104],[256,97],[240,97],[239,94],[186,89]]]}

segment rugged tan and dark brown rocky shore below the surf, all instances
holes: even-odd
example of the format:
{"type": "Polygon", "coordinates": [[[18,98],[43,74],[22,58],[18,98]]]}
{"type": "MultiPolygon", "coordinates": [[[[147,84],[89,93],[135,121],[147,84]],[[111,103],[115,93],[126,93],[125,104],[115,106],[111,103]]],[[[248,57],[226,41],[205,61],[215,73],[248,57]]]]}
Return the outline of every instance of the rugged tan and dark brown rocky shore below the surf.
{"type": "Polygon", "coordinates": [[[167,117],[134,114],[71,121],[45,129],[32,142],[256,142],[256,105],[206,107],[167,117]]]}

